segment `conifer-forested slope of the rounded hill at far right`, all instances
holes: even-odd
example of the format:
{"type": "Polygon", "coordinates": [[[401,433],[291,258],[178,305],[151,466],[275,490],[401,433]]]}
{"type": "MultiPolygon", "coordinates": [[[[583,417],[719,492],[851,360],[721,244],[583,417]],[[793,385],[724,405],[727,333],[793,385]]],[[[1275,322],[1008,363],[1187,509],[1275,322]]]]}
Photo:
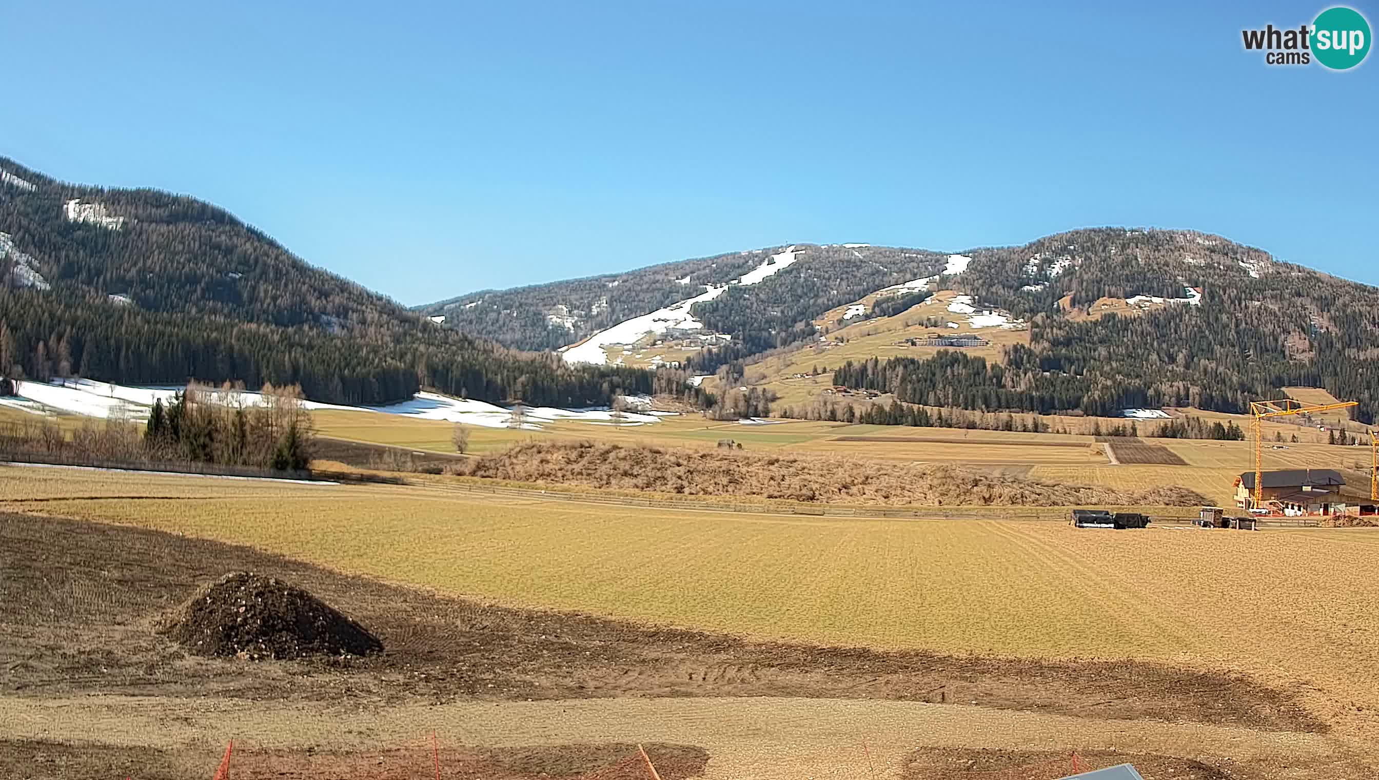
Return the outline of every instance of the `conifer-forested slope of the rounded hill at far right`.
{"type": "Polygon", "coordinates": [[[914,403],[1089,414],[1248,411],[1282,387],[1314,385],[1358,400],[1362,421],[1379,411],[1379,289],[1187,231],[1074,231],[967,254],[953,286],[1027,318],[1030,345],[1003,366],[848,366],[840,384],[914,403]],[[1102,308],[1120,313],[1098,318],[1102,308]]]}

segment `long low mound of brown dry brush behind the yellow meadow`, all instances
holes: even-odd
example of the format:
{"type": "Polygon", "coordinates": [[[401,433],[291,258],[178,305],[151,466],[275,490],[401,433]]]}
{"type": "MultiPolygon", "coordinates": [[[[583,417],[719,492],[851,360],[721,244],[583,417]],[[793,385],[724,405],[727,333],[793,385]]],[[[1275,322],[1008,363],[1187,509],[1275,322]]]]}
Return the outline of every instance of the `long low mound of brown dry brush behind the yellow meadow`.
{"type": "Polygon", "coordinates": [[[732,450],[525,443],[454,467],[455,474],[521,483],[582,485],[688,496],[749,496],[827,504],[1067,507],[1201,504],[1185,489],[1136,491],[1029,482],[952,465],[754,454],[732,450]]]}

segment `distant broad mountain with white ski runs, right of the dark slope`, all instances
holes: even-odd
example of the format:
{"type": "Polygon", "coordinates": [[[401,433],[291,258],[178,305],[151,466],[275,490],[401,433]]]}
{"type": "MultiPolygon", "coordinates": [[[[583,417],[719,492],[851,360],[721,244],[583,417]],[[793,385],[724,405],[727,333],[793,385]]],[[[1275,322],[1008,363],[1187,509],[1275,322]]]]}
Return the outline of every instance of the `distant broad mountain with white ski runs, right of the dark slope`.
{"type": "Polygon", "coordinates": [[[1362,421],[1379,411],[1379,289],[1193,231],[1081,229],[952,255],[797,244],[473,293],[421,311],[514,347],[585,340],[565,351],[571,359],[656,352],[703,373],[732,363],[734,381],[768,351],[811,349],[827,364],[830,331],[907,311],[920,330],[1018,329],[1027,340],[943,370],[910,356],[833,363],[838,384],[934,406],[1088,414],[1240,413],[1307,385],[1358,400],[1362,421]],[[931,298],[936,290],[953,294],[931,298]],[[645,326],[666,333],[641,337],[645,326]]]}

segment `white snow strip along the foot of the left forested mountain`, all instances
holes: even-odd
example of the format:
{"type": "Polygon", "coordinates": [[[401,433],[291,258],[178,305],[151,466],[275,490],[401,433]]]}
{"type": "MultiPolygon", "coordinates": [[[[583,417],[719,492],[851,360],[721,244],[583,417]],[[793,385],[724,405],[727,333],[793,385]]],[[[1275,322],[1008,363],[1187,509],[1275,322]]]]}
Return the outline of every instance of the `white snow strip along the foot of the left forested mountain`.
{"type": "MultiPolygon", "coordinates": [[[[50,414],[52,411],[80,414],[106,420],[110,417],[125,417],[128,420],[148,420],[153,402],[161,400],[164,404],[172,402],[172,396],[182,388],[175,387],[127,387],[109,382],[95,382],[91,380],[66,380],[52,384],[21,381],[15,391],[18,398],[0,399],[0,406],[18,409],[30,414],[50,414]]],[[[262,406],[263,395],[256,392],[241,392],[239,403],[244,406],[262,406]]],[[[212,391],[211,396],[217,402],[232,402],[219,391],[212,391]]],[[[637,403],[640,399],[629,399],[637,403]]],[[[320,403],[305,400],[309,410],[345,410],[345,411],[375,411],[379,414],[397,414],[403,417],[419,417],[422,420],[444,420],[450,422],[465,422],[483,428],[507,428],[513,424],[512,410],[503,409],[483,400],[467,400],[450,398],[445,395],[419,392],[411,400],[392,403],[387,406],[341,406],[335,403],[320,403]]],[[[553,409],[546,406],[528,407],[524,414],[523,428],[541,431],[542,424],[557,420],[574,420],[578,422],[647,425],[656,422],[661,414],[645,414],[637,411],[623,411],[621,417],[608,409],[553,409]]]]}

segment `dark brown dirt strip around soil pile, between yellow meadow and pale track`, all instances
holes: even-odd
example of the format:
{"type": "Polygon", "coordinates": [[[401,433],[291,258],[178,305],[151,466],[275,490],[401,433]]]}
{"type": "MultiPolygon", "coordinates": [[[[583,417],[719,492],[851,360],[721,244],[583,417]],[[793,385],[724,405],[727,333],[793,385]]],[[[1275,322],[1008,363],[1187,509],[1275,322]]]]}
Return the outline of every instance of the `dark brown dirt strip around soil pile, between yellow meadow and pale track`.
{"type": "Polygon", "coordinates": [[[1322,732],[1282,692],[1150,663],[883,653],[756,643],[517,610],[348,577],[244,547],[80,520],[0,515],[0,694],[385,703],[782,696],[887,699],[1099,718],[1322,732]],[[382,656],[292,664],[188,656],[153,624],[228,570],[280,577],[360,621],[382,656]]]}

